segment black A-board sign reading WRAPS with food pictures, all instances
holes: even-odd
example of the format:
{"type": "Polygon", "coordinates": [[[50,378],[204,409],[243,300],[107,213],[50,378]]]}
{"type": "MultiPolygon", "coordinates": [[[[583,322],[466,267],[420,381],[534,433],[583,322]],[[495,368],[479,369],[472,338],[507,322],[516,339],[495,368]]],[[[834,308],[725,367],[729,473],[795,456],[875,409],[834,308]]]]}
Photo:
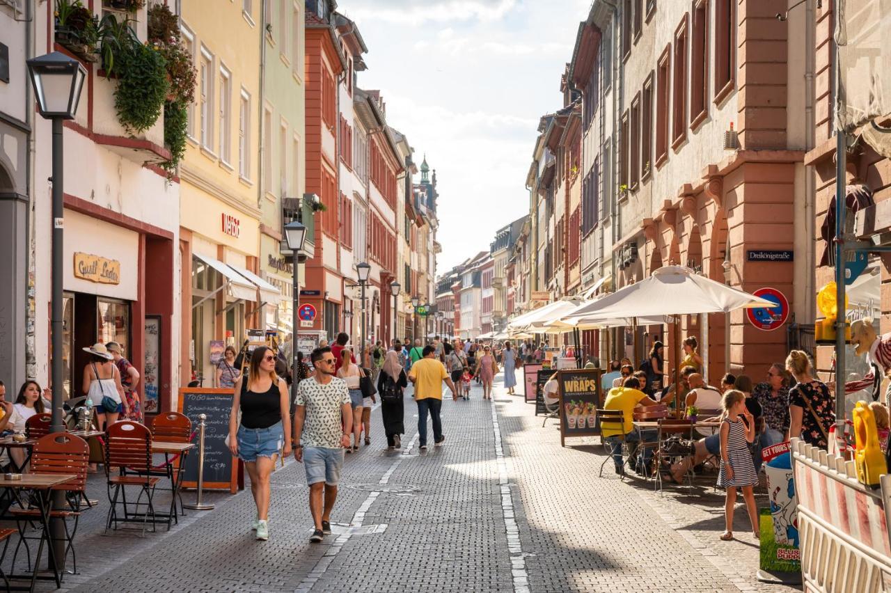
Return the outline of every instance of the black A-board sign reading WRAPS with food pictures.
{"type": "Polygon", "coordinates": [[[603,407],[600,369],[557,371],[560,383],[560,444],[566,437],[601,434],[596,410],[603,407]]]}

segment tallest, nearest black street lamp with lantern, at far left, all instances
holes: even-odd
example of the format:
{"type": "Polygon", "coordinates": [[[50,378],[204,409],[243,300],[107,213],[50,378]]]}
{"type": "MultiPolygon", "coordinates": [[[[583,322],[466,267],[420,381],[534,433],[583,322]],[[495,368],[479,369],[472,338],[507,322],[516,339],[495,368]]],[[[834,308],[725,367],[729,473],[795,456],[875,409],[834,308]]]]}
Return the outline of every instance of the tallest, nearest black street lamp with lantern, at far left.
{"type": "MultiPolygon", "coordinates": [[[[63,160],[62,160],[62,121],[74,119],[78,112],[80,91],[84,87],[86,69],[77,61],[69,58],[64,53],[53,52],[32,58],[25,62],[31,77],[31,85],[34,86],[34,94],[37,97],[37,110],[40,115],[53,122],[53,259],[51,277],[51,300],[53,303],[52,328],[53,360],[52,360],[52,387],[53,387],[53,418],[50,432],[61,433],[65,431],[62,424],[61,406],[64,396],[62,394],[62,271],[64,264],[64,214],[65,206],[62,201],[63,185],[63,160]]],[[[63,508],[65,505],[65,493],[61,490],[53,491],[53,508],[63,508]]],[[[53,555],[50,556],[51,564],[57,565],[65,556],[65,532],[63,519],[53,518],[52,537],[53,555]]],[[[37,566],[34,567],[37,571],[37,566]]]]}

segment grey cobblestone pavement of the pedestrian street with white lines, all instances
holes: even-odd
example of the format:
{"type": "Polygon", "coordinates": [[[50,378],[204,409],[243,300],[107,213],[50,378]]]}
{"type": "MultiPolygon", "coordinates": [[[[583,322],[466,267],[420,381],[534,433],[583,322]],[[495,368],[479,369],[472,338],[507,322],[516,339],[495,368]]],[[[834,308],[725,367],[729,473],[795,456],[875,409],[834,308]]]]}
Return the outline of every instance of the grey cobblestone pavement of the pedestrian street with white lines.
{"type": "Polygon", "coordinates": [[[347,456],[335,533],[321,545],[308,541],[307,487],[293,460],[273,476],[267,542],[249,532],[249,491],[211,495],[215,510],[190,511],[169,533],[103,535],[108,503],[94,479],[100,506],[84,516],[79,574],[63,589],[792,590],[755,580],[758,550],[741,507],[740,540],[719,541],[715,489],[660,495],[641,480],[598,478],[599,443],[561,448],[556,423],[543,428],[533,406],[499,383],[493,403],[478,387],[470,402],[446,398],[446,443],[426,453],[411,403],[402,451],[387,451],[375,410],[372,445],[347,456]]]}

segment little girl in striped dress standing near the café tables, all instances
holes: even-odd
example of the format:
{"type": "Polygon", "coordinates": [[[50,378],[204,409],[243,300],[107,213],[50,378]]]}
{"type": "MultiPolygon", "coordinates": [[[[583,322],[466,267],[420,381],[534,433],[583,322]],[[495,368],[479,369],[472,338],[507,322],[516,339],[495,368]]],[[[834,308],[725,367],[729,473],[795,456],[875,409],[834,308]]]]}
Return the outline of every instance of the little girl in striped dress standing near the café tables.
{"type": "Polygon", "coordinates": [[[755,418],[746,408],[746,396],[731,389],[721,399],[721,472],[718,487],[727,491],[724,502],[725,531],[721,539],[733,539],[733,508],[736,505],[736,489],[742,488],[748,518],[752,522],[755,537],[758,532],[758,513],[752,489],[758,485],[758,474],[748,445],[755,440],[755,418]]]}

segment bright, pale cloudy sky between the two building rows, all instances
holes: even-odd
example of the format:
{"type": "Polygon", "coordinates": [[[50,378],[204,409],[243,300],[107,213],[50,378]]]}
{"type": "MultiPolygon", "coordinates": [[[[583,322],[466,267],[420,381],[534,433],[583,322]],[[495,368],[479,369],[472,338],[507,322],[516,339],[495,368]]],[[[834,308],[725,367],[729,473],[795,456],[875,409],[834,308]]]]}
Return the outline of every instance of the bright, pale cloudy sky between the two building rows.
{"type": "Polygon", "coordinates": [[[368,46],[359,86],[380,90],[388,124],[437,171],[437,272],[528,213],[539,118],[562,107],[560,76],[590,5],[339,0],[368,46]]]}

